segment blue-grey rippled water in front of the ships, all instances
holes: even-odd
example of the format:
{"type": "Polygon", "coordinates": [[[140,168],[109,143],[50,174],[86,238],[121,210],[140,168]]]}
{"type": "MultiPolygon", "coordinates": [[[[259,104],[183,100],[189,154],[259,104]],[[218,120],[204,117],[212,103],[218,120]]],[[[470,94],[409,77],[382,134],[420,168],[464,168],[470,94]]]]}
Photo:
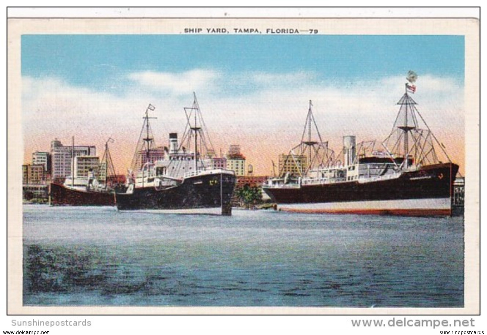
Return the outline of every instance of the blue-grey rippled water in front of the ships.
{"type": "Polygon", "coordinates": [[[24,305],[463,307],[462,218],[24,205],[24,305]]]}

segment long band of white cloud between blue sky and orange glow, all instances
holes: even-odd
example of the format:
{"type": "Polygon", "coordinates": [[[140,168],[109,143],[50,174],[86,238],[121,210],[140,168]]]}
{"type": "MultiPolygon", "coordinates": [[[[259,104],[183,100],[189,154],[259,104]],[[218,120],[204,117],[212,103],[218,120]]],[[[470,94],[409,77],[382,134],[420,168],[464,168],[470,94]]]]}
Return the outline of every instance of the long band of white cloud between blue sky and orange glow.
{"type": "MultiPolygon", "coordinates": [[[[137,72],[130,77],[134,82],[123,94],[75,87],[56,78],[23,77],[25,122],[36,126],[49,126],[54,120],[67,124],[68,119],[130,123],[132,116],[142,115],[149,103],[157,107],[155,114],[163,116],[164,121],[172,121],[184,116],[183,107],[191,105],[192,92],[196,91],[208,121],[229,126],[239,123],[248,131],[304,123],[309,100],[313,101],[315,117],[323,127],[353,128],[356,122],[383,124],[387,120],[392,125],[398,110],[395,104],[404,94],[405,82],[402,77],[386,77],[375,83],[336,86],[318,82],[312,74],[303,72],[224,76],[204,70],[137,72]],[[253,89],[244,94],[232,91],[229,83],[233,82],[253,89]],[[147,86],[167,91],[144,89],[147,86]]],[[[425,75],[416,86],[418,90],[412,96],[420,104],[420,110],[426,108],[426,113],[463,108],[463,87],[450,78],[425,75]]]]}

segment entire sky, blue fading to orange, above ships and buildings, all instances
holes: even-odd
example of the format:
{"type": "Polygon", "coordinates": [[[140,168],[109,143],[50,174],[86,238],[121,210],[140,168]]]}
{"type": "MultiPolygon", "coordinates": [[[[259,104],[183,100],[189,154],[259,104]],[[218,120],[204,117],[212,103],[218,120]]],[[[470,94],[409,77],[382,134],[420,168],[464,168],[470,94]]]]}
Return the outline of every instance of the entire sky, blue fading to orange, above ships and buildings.
{"type": "Polygon", "coordinates": [[[322,138],[341,152],[389,134],[406,74],[453,161],[465,162],[465,45],[451,35],[23,35],[24,161],[55,138],[102,148],[130,165],[149,104],[155,141],[182,136],[196,92],[217,153],[240,144],[255,175],[301,138],[308,104],[322,138]]]}

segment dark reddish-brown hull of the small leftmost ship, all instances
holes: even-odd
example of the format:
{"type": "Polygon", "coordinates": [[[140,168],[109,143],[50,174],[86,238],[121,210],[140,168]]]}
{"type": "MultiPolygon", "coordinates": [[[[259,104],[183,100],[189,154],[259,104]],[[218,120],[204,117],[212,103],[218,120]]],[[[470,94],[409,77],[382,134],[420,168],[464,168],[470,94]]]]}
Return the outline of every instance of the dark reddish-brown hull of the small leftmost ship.
{"type": "Polygon", "coordinates": [[[115,194],[114,192],[75,190],[51,183],[49,202],[51,206],[115,206],[115,194]]]}

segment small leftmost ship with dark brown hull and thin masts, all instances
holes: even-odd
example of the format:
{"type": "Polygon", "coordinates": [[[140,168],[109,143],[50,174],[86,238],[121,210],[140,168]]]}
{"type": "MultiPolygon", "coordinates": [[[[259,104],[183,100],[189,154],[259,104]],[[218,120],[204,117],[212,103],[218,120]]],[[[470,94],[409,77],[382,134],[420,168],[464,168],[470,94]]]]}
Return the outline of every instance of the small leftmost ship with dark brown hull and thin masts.
{"type": "Polygon", "coordinates": [[[120,186],[110,183],[110,176],[115,175],[108,148],[108,143],[111,141],[113,140],[108,139],[105,143],[105,153],[96,174],[91,169],[87,176],[78,177],[75,176],[73,138],[72,173],[71,176],[66,177],[63,184],[51,183],[49,185],[49,204],[51,206],[115,206],[115,188],[120,186]]]}

